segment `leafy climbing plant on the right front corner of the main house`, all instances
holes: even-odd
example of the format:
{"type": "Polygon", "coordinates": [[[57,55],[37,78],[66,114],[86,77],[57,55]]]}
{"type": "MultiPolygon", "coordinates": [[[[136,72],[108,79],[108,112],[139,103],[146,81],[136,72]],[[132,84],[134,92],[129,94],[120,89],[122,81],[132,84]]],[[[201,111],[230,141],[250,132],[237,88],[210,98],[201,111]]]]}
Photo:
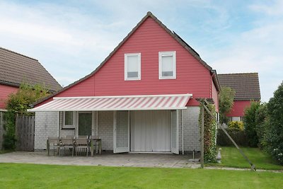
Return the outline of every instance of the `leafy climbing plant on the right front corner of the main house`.
{"type": "MultiPolygon", "coordinates": [[[[207,108],[216,118],[215,106],[208,104],[207,108]]],[[[200,112],[200,127],[201,120],[202,113],[200,112]]],[[[216,120],[207,113],[207,110],[204,110],[204,163],[216,162],[216,131],[216,120]]]]}

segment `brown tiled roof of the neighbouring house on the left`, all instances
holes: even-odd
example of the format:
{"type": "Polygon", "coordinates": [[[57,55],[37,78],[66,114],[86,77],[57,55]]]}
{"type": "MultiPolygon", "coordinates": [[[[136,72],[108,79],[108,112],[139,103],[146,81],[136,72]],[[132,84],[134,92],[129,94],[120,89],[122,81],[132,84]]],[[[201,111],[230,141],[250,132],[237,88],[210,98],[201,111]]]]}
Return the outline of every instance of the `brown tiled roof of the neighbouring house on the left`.
{"type": "Polygon", "coordinates": [[[62,88],[37,59],[0,47],[0,84],[44,84],[50,91],[62,88]]]}

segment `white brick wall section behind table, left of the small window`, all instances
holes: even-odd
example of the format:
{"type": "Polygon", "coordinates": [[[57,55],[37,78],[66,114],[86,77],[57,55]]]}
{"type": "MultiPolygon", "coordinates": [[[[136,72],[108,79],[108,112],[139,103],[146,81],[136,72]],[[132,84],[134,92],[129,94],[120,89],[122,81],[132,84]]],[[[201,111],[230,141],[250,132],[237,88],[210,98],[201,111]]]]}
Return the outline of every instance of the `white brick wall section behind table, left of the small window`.
{"type": "Polygon", "coordinates": [[[35,149],[46,149],[48,136],[58,136],[58,112],[35,113],[35,149]]]}

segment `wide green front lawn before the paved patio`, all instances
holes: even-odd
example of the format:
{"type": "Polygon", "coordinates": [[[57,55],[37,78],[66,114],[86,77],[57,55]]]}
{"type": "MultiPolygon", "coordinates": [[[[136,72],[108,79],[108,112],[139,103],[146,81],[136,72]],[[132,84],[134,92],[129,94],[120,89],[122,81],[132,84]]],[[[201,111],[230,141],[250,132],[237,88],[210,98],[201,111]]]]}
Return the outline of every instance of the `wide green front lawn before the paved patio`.
{"type": "Polygon", "coordinates": [[[282,173],[0,164],[0,188],[282,188],[282,173]]]}

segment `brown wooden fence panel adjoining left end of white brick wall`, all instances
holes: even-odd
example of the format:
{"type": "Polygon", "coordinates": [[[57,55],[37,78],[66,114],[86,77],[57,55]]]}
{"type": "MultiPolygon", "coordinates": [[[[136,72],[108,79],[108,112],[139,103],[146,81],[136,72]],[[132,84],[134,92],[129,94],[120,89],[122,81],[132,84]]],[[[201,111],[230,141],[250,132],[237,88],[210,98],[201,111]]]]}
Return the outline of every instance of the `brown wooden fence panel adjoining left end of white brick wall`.
{"type": "Polygon", "coordinates": [[[35,146],[35,116],[17,116],[16,136],[18,151],[33,151],[35,146]]]}

